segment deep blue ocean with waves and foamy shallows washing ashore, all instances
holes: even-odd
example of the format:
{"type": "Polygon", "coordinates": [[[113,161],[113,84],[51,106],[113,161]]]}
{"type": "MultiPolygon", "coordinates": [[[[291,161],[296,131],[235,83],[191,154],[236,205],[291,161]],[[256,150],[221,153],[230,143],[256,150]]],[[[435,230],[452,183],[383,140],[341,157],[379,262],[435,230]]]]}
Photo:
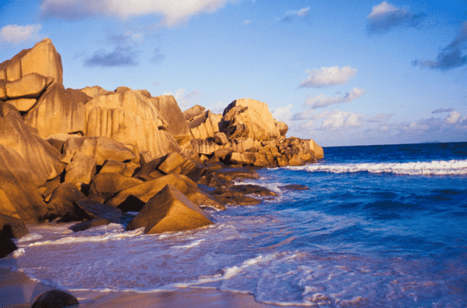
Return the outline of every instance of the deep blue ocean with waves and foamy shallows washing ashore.
{"type": "Polygon", "coordinates": [[[206,288],[319,307],[466,307],[467,143],[324,148],[258,170],[277,192],[209,211],[214,225],[144,235],[30,225],[0,260],[65,290],[206,288]],[[301,184],[309,190],[281,188],[301,184]]]}

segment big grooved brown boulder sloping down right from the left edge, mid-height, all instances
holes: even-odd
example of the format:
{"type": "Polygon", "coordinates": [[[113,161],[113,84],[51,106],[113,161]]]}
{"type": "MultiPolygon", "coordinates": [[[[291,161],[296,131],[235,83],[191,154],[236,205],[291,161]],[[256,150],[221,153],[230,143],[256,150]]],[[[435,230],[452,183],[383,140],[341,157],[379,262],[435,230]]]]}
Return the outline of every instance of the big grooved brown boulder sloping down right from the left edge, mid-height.
{"type": "Polygon", "coordinates": [[[62,173],[59,151],[25,124],[18,109],[0,102],[0,144],[15,150],[24,160],[30,180],[40,186],[62,173]]]}

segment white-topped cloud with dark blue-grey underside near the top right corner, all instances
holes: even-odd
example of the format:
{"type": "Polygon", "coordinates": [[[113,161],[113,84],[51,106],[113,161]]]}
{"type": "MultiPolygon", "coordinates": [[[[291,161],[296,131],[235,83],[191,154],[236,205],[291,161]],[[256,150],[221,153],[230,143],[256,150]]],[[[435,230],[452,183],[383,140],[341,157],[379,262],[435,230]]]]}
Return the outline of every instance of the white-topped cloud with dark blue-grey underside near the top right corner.
{"type": "Polygon", "coordinates": [[[414,14],[405,9],[396,8],[386,1],[373,6],[367,16],[367,32],[369,34],[384,33],[393,28],[415,27],[422,21],[423,14],[414,14]]]}

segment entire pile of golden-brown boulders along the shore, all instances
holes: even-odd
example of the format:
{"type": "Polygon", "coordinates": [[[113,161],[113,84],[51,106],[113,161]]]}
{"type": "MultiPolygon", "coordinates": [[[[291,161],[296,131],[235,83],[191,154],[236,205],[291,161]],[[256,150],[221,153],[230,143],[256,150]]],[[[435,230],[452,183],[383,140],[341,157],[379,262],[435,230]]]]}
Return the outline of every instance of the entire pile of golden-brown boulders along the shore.
{"type": "Polygon", "coordinates": [[[255,167],[323,158],[312,139],[286,138],[287,124],[258,100],[233,100],[223,114],[199,105],[182,112],[171,95],[66,89],[62,81],[49,39],[0,64],[2,237],[52,220],[76,221],[75,231],[104,223],[149,233],[203,227],[214,223],[205,208],[276,195],[234,184],[258,178],[255,167]]]}

